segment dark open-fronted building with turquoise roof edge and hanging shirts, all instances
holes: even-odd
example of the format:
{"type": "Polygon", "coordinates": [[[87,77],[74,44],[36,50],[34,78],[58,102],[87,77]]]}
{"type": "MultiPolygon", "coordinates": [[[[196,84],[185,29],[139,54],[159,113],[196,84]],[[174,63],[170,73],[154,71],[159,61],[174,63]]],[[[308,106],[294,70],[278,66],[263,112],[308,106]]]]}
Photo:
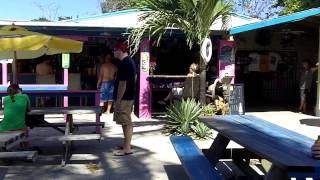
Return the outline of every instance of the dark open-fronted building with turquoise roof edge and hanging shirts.
{"type": "MultiPolygon", "coordinates": [[[[320,60],[319,15],[320,8],[314,8],[230,29],[237,46],[236,82],[245,86],[247,107],[298,110],[302,62],[315,66],[320,60]]],[[[319,73],[309,99],[309,111],[317,115],[319,73]]]]}

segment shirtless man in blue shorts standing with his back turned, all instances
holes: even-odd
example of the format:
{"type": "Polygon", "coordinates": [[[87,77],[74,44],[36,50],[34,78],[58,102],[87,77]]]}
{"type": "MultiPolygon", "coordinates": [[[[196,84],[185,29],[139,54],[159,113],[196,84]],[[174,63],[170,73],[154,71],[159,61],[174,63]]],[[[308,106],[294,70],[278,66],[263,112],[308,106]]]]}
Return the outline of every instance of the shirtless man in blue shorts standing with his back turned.
{"type": "Polygon", "coordinates": [[[111,63],[112,56],[107,53],[104,63],[100,67],[97,89],[100,89],[100,106],[103,106],[103,112],[110,113],[113,102],[114,80],[117,73],[117,67],[111,63]]]}

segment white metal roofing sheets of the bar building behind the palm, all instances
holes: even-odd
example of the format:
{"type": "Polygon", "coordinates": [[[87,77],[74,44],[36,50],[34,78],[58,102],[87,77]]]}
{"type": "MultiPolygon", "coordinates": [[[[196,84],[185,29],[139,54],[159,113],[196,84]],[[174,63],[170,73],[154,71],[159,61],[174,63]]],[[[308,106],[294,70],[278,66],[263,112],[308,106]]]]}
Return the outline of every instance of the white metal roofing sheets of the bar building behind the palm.
{"type": "MultiPolygon", "coordinates": [[[[77,30],[77,29],[108,29],[108,30],[123,30],[139,27],[139,16],[143,12],[137,9],[129,9],[123,11],[115,11],[110,13],[104,13],[100,15],[80,17],[77,19],[70,19],[57,22],[39,22],[39,21],[16,21],[16,20],[0,20],[0,26],[12,25],[13,23],[17,26],[30,27],[41,30],[54,30],[54,29],[67,29],[67,30],[77,30]]],[[[240,14],[234,14],[231,16],[229,21],[229,28],[241,26],[244,24],[249,24],[253,22],[258,22],[259,19],[251,18],[248,16],[243,16],[240,14]]],[[[222,21],[219,19],[214,22],[211,26],[211,30],[220,31],[222,27],[222,21]]]]}

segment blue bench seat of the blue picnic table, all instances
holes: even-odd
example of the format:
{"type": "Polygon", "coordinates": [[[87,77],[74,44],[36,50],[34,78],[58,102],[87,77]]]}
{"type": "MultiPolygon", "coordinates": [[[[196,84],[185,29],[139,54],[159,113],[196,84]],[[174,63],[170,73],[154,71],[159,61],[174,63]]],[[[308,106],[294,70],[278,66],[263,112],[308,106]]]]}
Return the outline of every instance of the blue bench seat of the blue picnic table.
{"type": "Polygon", "coordinates": [[[170,140],[190,179],[223,179],[189,136],[171,136],[170,140]]]}

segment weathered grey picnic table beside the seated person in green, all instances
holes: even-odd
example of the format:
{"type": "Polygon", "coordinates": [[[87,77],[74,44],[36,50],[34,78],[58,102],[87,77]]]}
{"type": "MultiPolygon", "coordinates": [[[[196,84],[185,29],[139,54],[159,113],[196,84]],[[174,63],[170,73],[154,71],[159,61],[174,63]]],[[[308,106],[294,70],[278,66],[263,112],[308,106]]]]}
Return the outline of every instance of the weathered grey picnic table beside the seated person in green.
{"type": "MultiPolygon", "coordinates": [[[[74,122],[73,122],[73,114],[99,114],[101,113],[101,107],[95,106],[82,106],[82,107],[40,107],[34,108],[28,114],[30,115],[46,115],[46,114],[64,114],[66,115],[65,121],[65,129],[59,130],[58,127],[55,127],[54,123],[49,123],[49,127],[54,127],[55,129],[59,130],[60,132],[64,133],[64,136],[55,136],[49,137],[48,140],[59,140],[62,141],[64,146],[64,154],[61,164],[64,166],[71,156],[71,143],[72,141],[78,140],[100,140],[101,131],[97,132],[97,134],[80,134],[76,135],[73,134],[74,131],[74,122]]],[[[3,114],[3,111],[0,111],[0,114],[3,114]]],[[[61,123],[59,123],[60,126],[61,123]]],[[[86,125],[86,124],[83,124],[86,125]]],[[[101,127],[100,121],[96,121],[96,126],[101,127]]],[[[32,139],[29,138],[29,139],[32,139]]],[[[45,140],[45,139],[44,139],[45,140]]]]}

